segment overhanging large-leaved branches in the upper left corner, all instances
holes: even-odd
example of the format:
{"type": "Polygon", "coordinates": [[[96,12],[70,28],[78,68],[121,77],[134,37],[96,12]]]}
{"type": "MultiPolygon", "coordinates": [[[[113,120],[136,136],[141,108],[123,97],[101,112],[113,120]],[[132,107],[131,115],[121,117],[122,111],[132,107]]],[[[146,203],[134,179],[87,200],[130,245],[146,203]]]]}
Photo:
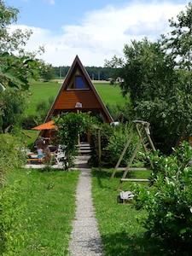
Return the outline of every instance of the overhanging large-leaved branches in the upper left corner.
{"type": "Polygon", "coordinates": [[[9,25],[17,21],[19,9],[6,6],[6,3],[0,1],[0,13],[0,82],[4,87],[15,86],[26,90],[30,80],[37,78],[40,70],[35,55],[41,54],[44,49],[26,53],[25,45],[32,31],[16,29],[10,32],[9,25]]]}

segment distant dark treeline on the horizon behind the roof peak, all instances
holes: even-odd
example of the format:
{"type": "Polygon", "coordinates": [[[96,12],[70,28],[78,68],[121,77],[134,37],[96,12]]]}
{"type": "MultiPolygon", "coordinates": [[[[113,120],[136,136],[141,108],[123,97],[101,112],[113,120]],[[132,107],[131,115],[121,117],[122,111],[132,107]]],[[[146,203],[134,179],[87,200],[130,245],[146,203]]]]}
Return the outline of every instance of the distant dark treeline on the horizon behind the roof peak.
{"type": "MultiPolygon", "coordinates": [[[[65,78],[69,70],[69,66],[54,67],[55,77],[65,78]]],[[[111,67],[84,67],[92,80],[108,80],[113,76],[113,68],[111,67]]]]}

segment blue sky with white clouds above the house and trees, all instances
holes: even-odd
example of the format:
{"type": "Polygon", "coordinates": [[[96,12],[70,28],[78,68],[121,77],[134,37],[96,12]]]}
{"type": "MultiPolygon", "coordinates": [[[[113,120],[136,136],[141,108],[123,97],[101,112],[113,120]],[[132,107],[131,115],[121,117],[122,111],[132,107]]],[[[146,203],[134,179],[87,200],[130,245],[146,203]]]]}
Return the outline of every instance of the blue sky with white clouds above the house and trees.
{"type": "Polygon", "coordinates": [[[76,55],[86,67],[103,67],[125,44],[147,37],[154,42],[170,30],[186,0],[4,0],[20,9],[11,29],[32,29],[26,50],[54,67],[71,66],[76,55]]]}

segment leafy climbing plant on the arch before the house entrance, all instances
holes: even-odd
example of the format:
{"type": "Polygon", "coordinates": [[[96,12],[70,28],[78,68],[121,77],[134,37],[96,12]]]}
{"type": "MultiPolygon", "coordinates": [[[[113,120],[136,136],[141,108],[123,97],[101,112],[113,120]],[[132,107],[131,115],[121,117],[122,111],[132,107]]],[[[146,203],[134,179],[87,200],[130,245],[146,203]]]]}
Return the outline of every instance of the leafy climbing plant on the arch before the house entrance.
{"type": "Polygon", "coordinates": [[[79,136],[96,123],[90,113],[61,113],[54,119],[57,125],[57,140],[67,154],[68,168],[73,166],[73,156],[77,154],[79,136]]]}

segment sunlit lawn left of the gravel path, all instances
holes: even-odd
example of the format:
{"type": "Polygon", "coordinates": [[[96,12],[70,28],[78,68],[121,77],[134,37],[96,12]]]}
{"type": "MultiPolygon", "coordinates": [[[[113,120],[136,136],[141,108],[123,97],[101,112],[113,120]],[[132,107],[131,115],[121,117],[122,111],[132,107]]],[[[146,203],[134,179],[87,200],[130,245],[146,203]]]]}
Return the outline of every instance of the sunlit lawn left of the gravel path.
{"type": "Polygon", "coordinates": [[[13,170],[8,183],[20,180],[20,200],[26,204],[27,236],[20,256],[68,255],[79,172],[13,170]]]}

